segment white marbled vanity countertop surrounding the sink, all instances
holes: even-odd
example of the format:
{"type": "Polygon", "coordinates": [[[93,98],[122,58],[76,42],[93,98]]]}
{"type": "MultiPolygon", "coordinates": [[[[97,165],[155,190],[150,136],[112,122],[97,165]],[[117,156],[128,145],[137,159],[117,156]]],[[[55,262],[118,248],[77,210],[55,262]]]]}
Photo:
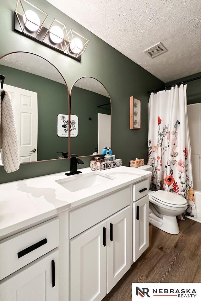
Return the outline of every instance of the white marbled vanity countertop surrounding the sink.
{"type": "Polygon", "coordinates": [[[55,182],[60,179],[82,177],[94,173],[83,168],[76,176],[65,176],[65,172],[35,177],[27,180],[0,184],[0,237],[30,224],[42,221],[66,209],[80,206],[95,198],[112,193],[122,187],[149,177],[150,172],[138,168],[119,166],[103,171],[115,177],[112,181],[70,192],[55,182]]]}

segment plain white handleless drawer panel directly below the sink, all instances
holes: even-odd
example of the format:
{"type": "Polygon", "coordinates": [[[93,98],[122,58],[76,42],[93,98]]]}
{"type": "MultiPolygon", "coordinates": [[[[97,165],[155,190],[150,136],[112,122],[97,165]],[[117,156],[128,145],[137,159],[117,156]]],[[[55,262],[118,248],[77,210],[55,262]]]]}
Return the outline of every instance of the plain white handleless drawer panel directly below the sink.
{"type": "Polygon", "coordinates": [[[70,238],[98,224],[110,215],[130,205],[130,187],[70,211],[70,238]]]}

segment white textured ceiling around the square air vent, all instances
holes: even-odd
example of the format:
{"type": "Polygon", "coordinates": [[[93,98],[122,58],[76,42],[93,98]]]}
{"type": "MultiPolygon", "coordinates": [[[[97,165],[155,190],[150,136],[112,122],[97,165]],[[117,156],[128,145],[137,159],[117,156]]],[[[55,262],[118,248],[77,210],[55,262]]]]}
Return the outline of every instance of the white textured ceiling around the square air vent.
{"type": "Polygon", "coordinates": [[[164,82],[201,71],[201,0],[47,1],[164,82]]]}

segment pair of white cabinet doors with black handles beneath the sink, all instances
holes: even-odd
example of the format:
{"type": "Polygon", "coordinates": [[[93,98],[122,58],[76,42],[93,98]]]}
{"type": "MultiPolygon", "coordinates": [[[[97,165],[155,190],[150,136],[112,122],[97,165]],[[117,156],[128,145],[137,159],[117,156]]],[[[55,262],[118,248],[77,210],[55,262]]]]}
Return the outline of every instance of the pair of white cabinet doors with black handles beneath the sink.
{"type": "Polygon", "coordinates": [[[70,240],[70,301],[100,301],[109,293],[130,268],[130,235],[127,206],[70,240]]]}

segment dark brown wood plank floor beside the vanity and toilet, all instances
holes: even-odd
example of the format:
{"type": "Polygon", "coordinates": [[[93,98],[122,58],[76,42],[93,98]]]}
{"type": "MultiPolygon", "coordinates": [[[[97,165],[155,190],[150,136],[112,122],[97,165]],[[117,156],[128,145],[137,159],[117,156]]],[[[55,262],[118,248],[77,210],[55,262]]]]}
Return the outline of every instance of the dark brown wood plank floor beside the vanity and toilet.
{"type": "Polygon", "coordinates": [[[104,301],[130,301],[132,282],[201,282],[201,224],[179,220],[180,233],[153,227],[151,248],[122,277],[104,301]]]}

